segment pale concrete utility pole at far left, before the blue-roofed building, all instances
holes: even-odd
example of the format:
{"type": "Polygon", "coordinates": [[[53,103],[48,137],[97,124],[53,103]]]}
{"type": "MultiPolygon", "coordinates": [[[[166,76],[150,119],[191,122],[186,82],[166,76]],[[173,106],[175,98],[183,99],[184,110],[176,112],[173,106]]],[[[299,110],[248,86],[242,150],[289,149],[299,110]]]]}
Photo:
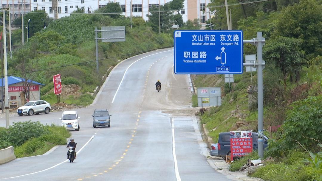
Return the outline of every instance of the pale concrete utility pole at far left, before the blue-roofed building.
{"type": "Polygon", "coordinates": [[[3,55],[5,63],[5,127],[9,128],[9,96],[8,96],[8,69],[7,69],[7,42],[5,36],[5,10],[3,11],[3,55]]]}

